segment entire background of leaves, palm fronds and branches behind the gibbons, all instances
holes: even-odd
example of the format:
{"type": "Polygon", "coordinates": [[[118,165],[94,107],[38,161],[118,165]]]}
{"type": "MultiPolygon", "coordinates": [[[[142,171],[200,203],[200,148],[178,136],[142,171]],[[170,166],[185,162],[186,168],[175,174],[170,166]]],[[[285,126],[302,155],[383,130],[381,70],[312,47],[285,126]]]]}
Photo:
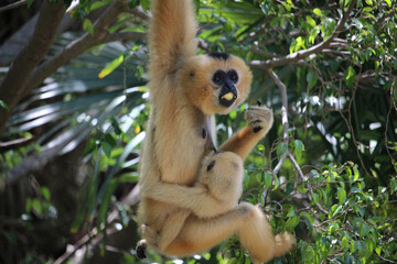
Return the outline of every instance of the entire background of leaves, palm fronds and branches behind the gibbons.
{"type": "MultiPolygon", "coordinates": [[[[33,37],[13,41],[12,23],[0,32],[0,263],[138,263],[149,1],[81,0],[61,32],[68,1],[26,2],[0,7],[20,24],[40,12],[33,37]]],[[[275,111],[242,197],[275,232],[298,238],[272,263],[397,262],[397,3],[195,3],[201,52],[245,58],[248,105],[275,111]]],[[[245,124],[245,107],[217,117],[218,142],[245,124]]],[[[143,263],[167,261],[249,256],[232,238],[185,260],[149,252],[143,263]]]]}

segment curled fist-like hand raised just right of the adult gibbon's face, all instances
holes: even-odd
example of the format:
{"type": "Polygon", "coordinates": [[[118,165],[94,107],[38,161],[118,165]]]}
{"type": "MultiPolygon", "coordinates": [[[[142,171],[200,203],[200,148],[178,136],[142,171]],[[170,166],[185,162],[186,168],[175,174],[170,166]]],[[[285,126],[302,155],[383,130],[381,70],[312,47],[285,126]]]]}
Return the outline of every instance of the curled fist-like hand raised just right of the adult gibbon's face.
{"type": "Polygon", "coordinates": [[[273,122],[272,110],[264,106],[249,107],[245,112],[248,125],[253,128],[254,133],[261,131],[267,133],[273,122]]]}

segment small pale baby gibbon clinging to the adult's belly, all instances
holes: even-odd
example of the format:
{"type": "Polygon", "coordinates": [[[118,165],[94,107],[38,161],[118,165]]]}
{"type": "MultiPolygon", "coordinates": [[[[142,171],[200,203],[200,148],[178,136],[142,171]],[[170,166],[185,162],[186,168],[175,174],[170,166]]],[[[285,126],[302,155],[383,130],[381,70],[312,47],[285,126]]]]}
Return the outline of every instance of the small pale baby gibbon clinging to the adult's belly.
{"type": "MultiPolygon", "coordinates": [[[[196,211],[196,216],[216,217],[236,207],[243,193],[243,161],[233,152],[217,152],[205,157],[194,186],[206,189],[206,195],[213,196],[216,202],[222,204],[223,210],[214,211],[213,208],[207,208],[203,215],[196,211]]],[[[164,220],[161,230],[155,231],[142,224],[140,232],[149,246],[163,252],[176,238],[191,213],[190,210],[178,209],[164,220]]]]}

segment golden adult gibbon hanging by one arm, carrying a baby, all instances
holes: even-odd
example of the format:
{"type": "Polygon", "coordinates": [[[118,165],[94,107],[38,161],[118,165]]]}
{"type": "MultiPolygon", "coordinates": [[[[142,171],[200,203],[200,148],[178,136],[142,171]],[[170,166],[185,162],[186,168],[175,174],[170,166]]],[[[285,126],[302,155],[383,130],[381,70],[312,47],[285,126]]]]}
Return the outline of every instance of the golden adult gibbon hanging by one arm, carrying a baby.
{"type": "MultiPolygon", "coordinates": [[[[240,58],[225,53],[195,55],[196,23],[191,0],[153,0],[151,10],[152,109],[139,164],[139,227],[163,234],[173,230],[162,244],[165,249],[161,253],[165,255],[200,253],[233,234],[238,235],[255,263],[285,254],[294,238],[289,233],[275,237],[258,207],[242,202],[225,211],[217,197],[233,188],[225,191],[222,188],[227,186],[214,186],[221,193],[213,196],[207,188],[195,185],[204,157],[217,151],[213,116],[230,112],[247,98],[253,78],[249,68],[240,58]],[[174,217],[181,212],[184,218],[174,217]]],[[[249,107],[245,117],[247,127],[219,147],[219,152],[235,153],[242,162],[273,120],[266,107],[249,107]]],[[[214,173],[224,177],[228,172],[214,173]]],[[[217,177],[215,174],[213,177],[217,177]]],[[[144,229],[141,235],[144,242],[144,229]]]]}

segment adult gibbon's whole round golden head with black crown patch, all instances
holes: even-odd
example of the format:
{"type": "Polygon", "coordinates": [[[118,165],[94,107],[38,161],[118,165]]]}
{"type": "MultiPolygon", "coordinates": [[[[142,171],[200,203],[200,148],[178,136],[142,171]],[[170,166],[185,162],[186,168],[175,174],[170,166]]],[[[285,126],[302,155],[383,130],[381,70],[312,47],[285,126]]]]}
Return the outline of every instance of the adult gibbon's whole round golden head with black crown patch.
{"type": "Polygon", "coordinates": [[[228,113],[248,96],[253,75],[243,59],[225,53],[198,55],[185,62],[180,89],[205,114],[228,113]]]}

